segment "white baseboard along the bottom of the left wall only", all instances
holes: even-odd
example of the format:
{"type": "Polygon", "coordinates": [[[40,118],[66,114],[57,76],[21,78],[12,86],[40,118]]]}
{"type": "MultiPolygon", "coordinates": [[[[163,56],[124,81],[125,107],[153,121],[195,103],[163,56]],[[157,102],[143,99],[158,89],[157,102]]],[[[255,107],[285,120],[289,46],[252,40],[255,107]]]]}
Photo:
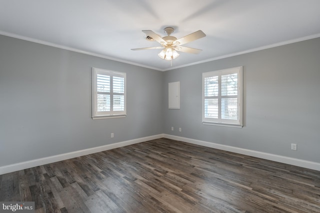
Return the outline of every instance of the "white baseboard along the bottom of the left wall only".
{"type": "Polygon", "coordinates": [[[138,138],[138,139],[133,139],[133,140],[128,140],[128,141],[123,141],[123,142],[118,142],[114,144],[108,144],[104,146],[99,146],[99,147],[93,147],[85,150],[79,150],[75,152],[69,152],[69,153],[64,153],[60,155],[53,155],[45,158],[40,158],[40,159],[34,159],[31,161],[25,161],[21,163],[16,163],[16,164],[11,164],[7,166],[2,166],[0,167],[0,175],[10,173],[10,172],[15,172],[19,170],[24,170],[32,167],[37,167],[45,164],[50,164],[58,161],[63,161],[71,158],[76,158],[84,155],[89,155],[97,152],[102,152],[105,150],[110,150],[110,149],[115,149],[119,147],[124,147],[132,144],[137,144],[141,143],[144,141],[150,141],[158,138],[163,138],[163,134],[159,135],[153,135],[153,136],[148,136],[148,137],[143,137],[143,138],[138,138]]]}

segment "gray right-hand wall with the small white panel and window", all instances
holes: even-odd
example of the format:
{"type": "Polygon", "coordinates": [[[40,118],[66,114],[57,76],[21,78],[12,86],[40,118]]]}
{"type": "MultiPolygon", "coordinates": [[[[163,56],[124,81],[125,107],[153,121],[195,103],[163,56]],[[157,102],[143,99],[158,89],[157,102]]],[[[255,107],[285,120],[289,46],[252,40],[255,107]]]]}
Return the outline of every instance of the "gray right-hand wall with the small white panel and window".
{"type": "Polygon", "coordinates": [[[166,71],[163,83],[164,133],[320,162],[320,38],[166,71]],[[236,66],[243,66],[244,127],[202,125],[202,72],[236,66]],[[174,81],[179,110],[167,109],[174,81]]]}

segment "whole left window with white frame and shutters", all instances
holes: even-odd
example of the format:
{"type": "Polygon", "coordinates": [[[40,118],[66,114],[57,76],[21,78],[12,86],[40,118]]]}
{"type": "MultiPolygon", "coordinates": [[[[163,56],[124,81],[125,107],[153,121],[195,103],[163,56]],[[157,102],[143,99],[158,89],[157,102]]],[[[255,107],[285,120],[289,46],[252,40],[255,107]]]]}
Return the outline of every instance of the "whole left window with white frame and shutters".
{"type": "Polygon", "coordinates": [[[126,74],[92,68],[92,119],[126,115],[126,74]]]}

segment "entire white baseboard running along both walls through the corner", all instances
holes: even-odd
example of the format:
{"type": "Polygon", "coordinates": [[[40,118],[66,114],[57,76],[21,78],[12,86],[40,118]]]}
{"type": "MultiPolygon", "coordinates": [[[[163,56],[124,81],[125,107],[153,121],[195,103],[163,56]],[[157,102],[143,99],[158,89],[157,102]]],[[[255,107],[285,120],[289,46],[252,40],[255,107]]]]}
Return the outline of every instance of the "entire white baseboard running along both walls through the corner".
{"type": "Polygon", "coordinates": [[[133,139],[133,140],[128,140],[128,141],[123,141],[123,142],[118,142],[114,144],[108,144],[104,146],[99,146],[99,147],[93,147],[85,150],[79,150],[75,152],[69,152],[69,153],[64,153],[61,155],[54,155],[54,156],[49,156],[45,158],[40,158],[40,159],[34,159],[31,161],[25,161],[21,163],[16,163],[16,164],[11,164],[7,166],[2,166],[0,167],[0,175],[10,173],[10,172],[15,172],[23,169],[28,169],[36,166],[41,166],[45,164],[50,164],[58,161],[63,161],[71,158],[76,158],[84,155],[89,155],[97,152],[102,152],[110,149],[115,149],[119,147],[124,147],[132,144],[137,144],[141,143],[144,141],[150,141],[150,140],[155,140],[158,138],[168,138],[172,140],[177,140],[177,141],[183,141],[186,143],[190,144],[196,144],[204,147],[210,147],[214,149],[219,149],[219,150],[224,150],[228,152],[233,152],[233,153],[238,153],[242,155],[247,155],[247,156],[252,156],[256,158],[261,158],[261,159],[266,159],[270,161],[275,161],[279,163],[284,163],[284,164],[289,164],[293,166],[298,166],[298,167],[303,167],[307,169],[313,169],[320,171],[320,163],[312,162],[312,161],[305,161],[305,160],[300,160],[296,158],[289,158],[285,156],[280,156],[280,155],[273,155],[270,153],[264,153],[264,152],[258,152],[254,150],[248,150],[248,149],[242,149],[238,147],[232,147],[232,146],[227,146],[227,145],[222,145],[222,144],[216,144],[216,143],[211,143],[211,142],[206,142],[206,141],[200,141],[200,140],[195,140],[195,139],[190,139],[190,138],[184,138],[184,137],[179,137],[179,136],[174,136],[174,135],[167,135],[167,134],[159,134],[159,135],[153,135],[153,136],[148,136],[148,137],[143,137],[143,138],[138,138],[138,139],[133,139]]]}

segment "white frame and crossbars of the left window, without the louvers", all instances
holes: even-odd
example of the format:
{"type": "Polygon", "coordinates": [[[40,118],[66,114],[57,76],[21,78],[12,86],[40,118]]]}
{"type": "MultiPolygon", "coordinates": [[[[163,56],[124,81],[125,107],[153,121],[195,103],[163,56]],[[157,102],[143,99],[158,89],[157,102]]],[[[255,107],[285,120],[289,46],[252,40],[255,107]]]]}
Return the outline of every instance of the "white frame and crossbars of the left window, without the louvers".
{"type": "Polygon", "coordinates": [[[92,67],[92,119],[108,119],[108,118],[123,118],[126,117],[126,73],[100,69],[92,67]],[[109,92],[98,92],[97,91],[97,75],[110,76],[110,91],[109,92]],[[116,93],[113,91],[113,77],[124,78],[124,92],[116,93]],[[110,95],[110,111],[98,112],[97,111],[97,94],[109,94],[110,95]],[[114,111],[113,110],[113,96],[114,95],[124,96],[124,110],[114,111]]]}

